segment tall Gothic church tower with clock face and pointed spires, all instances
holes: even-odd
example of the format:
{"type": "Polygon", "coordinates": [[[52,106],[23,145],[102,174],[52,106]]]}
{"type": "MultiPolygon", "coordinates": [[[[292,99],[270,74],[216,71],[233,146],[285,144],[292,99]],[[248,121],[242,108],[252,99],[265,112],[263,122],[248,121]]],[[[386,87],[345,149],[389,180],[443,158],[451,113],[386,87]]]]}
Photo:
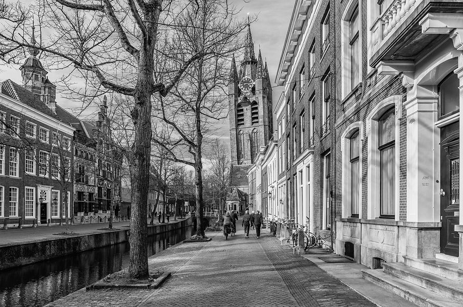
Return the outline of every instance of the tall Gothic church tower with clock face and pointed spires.
{"type": "Polygon", "coordinates": [[[231,143],[231,186],[247,191],[247,171],[256,160],[261,146],[272,135],[272,90],[267,63],[262,54],[256,58],[248,24],[244,57],[231,62],[228,85],[231,143]]]}

